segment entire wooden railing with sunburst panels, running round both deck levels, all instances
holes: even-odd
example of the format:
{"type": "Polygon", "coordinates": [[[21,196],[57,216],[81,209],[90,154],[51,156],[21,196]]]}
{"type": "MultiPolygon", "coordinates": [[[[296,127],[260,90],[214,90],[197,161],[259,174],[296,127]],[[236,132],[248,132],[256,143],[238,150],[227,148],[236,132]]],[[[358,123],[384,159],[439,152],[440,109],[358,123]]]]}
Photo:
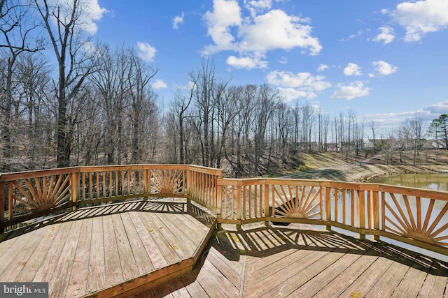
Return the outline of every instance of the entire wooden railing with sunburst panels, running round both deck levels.
{"type": "Polygon", "coordinates": [[[308,223],[388,237],[448,255],[448,193],[419,188],[299,179],[225,179],[196,165],[70,167],[0,174],[2,231],[87,204],[181,197],[217,223],[308,223]]]}

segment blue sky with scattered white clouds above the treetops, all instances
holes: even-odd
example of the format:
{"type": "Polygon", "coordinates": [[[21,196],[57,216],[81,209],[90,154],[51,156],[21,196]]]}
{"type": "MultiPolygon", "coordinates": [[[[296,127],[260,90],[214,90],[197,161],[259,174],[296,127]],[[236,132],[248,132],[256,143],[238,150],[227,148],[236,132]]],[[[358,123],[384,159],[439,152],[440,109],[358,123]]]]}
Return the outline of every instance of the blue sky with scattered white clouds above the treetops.
{"type": "Polygon", "coordinates": [[[158,68],[161,104],[208,54],[218,77],[270,84],[290,105],[384,127],[448,113],[446,0],[90,1],[94,39],[158,68]]]}

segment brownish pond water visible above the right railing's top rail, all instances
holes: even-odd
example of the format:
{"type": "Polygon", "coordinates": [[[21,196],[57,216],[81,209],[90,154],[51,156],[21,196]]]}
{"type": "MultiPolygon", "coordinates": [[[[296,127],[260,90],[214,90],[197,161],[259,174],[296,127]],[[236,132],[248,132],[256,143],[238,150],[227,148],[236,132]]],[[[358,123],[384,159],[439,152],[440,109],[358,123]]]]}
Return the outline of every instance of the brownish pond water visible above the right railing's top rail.
{"type": "Polygon", "coordinates": [[[370,180],[372,183],[426,188],[432,191],[448,191],[448,174],[396,174],[370,180]]]}

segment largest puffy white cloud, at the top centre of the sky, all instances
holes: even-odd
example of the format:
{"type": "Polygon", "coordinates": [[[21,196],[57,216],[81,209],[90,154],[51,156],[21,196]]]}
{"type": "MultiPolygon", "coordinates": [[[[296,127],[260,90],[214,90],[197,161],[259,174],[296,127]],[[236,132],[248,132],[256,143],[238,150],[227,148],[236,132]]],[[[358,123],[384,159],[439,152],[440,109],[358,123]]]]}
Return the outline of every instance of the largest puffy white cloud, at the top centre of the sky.
{"type": "MultiPolygon", "coordinates": [[[[204,47],[204,54],[235,51],[240,58],[231,56],[228,61],[239,65],[237,62],[246,61],[246,57],[261,61],[271,50],[288,51],[301,47],[311,55],[322,50],[318,38],[311,36],[309,19],[287,15],[283,10],[270,10],[272,0],[246,0],[244,8],[246,15],[236,0],[214,0],[214,9],[204,15],[214,44],[204,47]],[[265,10],[269,11],[265,13],[265,10]]],[[[258,64],[253,66],[260,67],[258,64]]]]}

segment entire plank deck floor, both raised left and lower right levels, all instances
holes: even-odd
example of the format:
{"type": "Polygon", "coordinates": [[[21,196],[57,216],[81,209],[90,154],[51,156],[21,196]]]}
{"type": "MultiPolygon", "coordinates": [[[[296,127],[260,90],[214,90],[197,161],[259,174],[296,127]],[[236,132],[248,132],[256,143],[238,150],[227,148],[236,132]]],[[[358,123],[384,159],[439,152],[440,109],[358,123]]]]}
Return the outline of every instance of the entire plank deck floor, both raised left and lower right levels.
{"type": "MultiPolygon", "coordinates": [[[[99,209],[8,234],[0,242],[0,280],[49,281],[50,297],[97,295],[186,264],[209,231],[179,202],[99,209]]],[[[447,262],[381,241],[296,228],[219,231],[197,267],[185,272],[135,297],[448,296],[447,262]]]]}

